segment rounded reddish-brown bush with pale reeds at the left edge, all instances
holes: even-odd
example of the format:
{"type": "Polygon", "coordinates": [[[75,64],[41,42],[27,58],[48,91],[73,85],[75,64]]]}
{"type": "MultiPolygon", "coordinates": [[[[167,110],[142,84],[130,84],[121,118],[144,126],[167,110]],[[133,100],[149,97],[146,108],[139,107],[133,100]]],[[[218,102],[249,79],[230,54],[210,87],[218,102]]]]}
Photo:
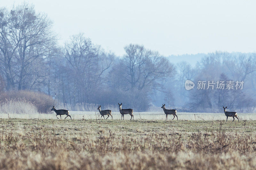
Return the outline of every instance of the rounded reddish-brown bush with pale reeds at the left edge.
{"type": "Polygon", "coordinates": [[[29,111],[26,113],[49,113],[53,105],[56,105],[56,102],[52,97],[42,92],[9,91],[0,96],[0,106],[3,110],[9,108],[8,113],[23,113],[26,109],[29,111]]]}

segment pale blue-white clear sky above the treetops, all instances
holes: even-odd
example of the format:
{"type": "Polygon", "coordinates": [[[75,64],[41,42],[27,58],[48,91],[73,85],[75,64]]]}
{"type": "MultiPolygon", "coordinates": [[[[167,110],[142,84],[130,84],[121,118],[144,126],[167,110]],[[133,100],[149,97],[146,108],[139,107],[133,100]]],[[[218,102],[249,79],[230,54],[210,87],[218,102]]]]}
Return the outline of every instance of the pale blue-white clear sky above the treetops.
{"type": "MultiPolygon", "coordinates": [[[[0,0],[11,8],[23,0],[0,0]]],[[[84,33],[106,50],[142,44],[160,54],[256,51],[256,1],[27,0],[54,21],[60,44],[84,33]]]]}

